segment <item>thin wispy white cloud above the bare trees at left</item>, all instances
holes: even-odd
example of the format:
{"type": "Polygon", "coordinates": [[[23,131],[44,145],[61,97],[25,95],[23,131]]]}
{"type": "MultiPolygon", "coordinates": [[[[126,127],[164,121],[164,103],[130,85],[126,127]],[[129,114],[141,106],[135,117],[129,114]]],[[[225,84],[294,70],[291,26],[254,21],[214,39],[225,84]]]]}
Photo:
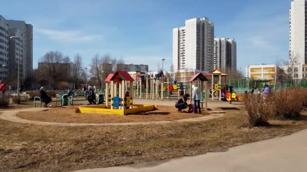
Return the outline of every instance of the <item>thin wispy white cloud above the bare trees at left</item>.
{"type": "Polygon", "coordinates": [[[39,29],[34,28],[36,33],[41,35],[45,35],[50,40],[55,41],[64,41],[64,42],[90,42],[95,40],[100,40],[101,35],[98,34],[87,34],[82,31],[58,31],[58,30],[50,30],[50,29],[39,29]]]}

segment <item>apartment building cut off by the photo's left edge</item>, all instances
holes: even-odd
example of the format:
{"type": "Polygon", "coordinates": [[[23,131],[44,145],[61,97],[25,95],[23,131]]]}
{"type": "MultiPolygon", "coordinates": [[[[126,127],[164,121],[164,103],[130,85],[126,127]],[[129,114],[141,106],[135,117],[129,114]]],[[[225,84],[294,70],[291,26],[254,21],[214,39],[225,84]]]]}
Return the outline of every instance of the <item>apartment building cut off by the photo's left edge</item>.
{"type": "Polygon", "coordinates": [[[9,72],[9,26],[0,15],[0,79],[8,78],[9,72]]]}

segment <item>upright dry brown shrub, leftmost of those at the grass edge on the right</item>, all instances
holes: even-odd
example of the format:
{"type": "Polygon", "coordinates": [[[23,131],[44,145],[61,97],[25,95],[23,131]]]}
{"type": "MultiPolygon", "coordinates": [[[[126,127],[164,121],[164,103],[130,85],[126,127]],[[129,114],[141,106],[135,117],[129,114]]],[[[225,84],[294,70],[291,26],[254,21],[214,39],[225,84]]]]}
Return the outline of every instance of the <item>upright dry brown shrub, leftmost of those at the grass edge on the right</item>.
{"type": "Polygon", "coordinates": [[[244,105],[249,127],[268,124],[270,113],[267,107],[261,103],[261,98],[257,94],[246,94],[244,97],[244,105]]]}

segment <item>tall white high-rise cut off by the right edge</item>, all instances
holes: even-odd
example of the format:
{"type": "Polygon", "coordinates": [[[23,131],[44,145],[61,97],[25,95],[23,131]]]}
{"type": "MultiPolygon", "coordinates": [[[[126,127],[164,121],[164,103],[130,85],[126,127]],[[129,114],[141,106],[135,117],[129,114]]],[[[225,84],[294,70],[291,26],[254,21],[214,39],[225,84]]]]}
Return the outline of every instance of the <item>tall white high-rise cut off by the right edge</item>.
{"type": "Polygon", "coordinates": [[[307,64],[307,4],[306,0],[294,0],[290,8],[290,58],[297,57],[299,64],[307,64]]]}

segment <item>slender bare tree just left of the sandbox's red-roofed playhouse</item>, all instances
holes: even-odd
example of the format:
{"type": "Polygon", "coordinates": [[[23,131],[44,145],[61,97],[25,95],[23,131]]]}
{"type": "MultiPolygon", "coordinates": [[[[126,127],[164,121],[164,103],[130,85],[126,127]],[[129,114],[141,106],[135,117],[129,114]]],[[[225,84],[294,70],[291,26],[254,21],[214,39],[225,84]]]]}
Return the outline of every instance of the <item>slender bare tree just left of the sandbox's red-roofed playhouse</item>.
{"type": "Polygon", "coordinates": [[[103,71],[101,70],[101,58],[98,53],[92,58],[89,72],[92,74],[92,78],[98,80],[100,88],[102,88],[103,83],[101,79],[103,78],[101,73],[103,71]]]}

